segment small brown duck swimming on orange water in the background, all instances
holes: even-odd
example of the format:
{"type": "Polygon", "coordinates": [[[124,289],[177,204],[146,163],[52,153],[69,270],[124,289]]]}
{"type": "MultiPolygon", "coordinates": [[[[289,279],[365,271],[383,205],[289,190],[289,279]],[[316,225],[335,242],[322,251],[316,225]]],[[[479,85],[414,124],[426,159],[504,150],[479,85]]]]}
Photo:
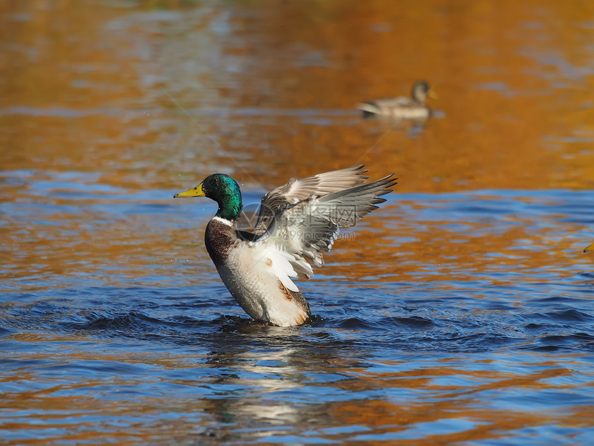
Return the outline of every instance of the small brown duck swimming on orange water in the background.
{"type": "Polygon", "coordinates": [[[393,119],[425,120],[431,115],[431,109],[425,102],[427,97],[437,99],[437,95],[423,80],[412,86],[411,97],[390,97],[358,104],[357,109],[363,111],[363,118],[385,116],[393,119]]]}

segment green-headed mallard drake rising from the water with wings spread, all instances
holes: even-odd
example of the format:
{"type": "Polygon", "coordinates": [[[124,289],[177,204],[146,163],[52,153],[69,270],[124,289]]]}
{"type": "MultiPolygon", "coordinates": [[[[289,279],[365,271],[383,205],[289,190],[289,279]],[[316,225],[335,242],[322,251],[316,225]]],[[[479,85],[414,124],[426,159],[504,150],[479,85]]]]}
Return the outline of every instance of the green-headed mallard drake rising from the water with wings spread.
{"type": "Polygon", "coordinates": [[[262,197],[251,232],[238,230],[242,210],[239,185],[224,174],[207,176],[173,198],[206,196],[218,203],[204,245],[238,304],[253,319],[278,326],[305,324],[309,304],[292,278],[309,279],[311,261],[322,266],[339,228],[349,227],[385,201],[394,174],[365,183],[363,165],[289,180],[262,197]]]}

